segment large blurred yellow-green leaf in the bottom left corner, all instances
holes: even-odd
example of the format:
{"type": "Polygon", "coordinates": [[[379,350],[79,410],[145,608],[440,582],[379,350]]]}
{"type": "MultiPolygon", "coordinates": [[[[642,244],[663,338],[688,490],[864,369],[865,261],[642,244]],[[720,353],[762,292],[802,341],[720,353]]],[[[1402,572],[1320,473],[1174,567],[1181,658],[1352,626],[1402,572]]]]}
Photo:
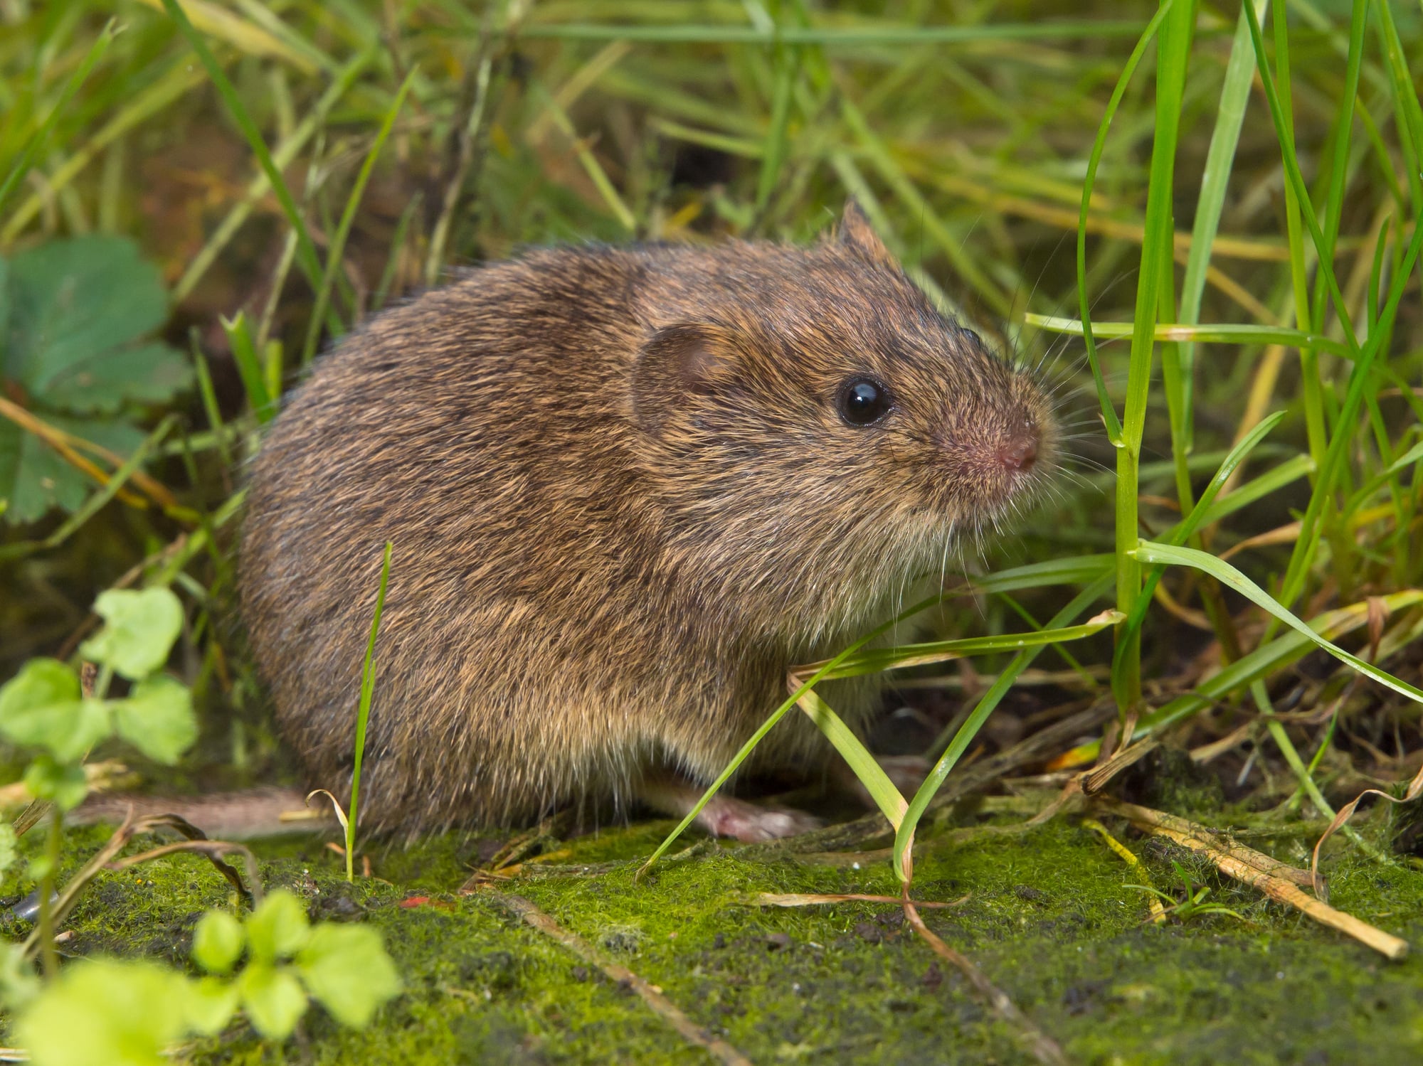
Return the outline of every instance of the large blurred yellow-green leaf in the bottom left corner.
{"type": "Polygon", "coordinates": [[[166,1066],[185,984],[152,962],[75,962],[20,1015],[13,1042],[36,1066],[166,1066]]]}

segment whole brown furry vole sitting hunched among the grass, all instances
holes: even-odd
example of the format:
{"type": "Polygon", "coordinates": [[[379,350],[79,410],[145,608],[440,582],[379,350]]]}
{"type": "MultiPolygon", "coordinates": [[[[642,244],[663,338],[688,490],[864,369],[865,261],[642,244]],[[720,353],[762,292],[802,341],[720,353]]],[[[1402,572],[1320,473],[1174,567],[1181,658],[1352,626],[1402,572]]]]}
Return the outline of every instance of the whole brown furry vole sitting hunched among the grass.
{"type": "MultiPolygon", "coordinates": [[[[1049,405],[851,203],[814,247],[564,247],[465,274],[316,367],[252,469],[242,610],[312,783],[374,829],[680,813],[949,543],[1046,476],[1049,405]]],[[[825,687],[852,725],[875,678],[825,687]]],[[[794,715],[760,765],[828,746],[794,715]]],[[[717,833],[803,827],[727,800],[717,833]]]]}

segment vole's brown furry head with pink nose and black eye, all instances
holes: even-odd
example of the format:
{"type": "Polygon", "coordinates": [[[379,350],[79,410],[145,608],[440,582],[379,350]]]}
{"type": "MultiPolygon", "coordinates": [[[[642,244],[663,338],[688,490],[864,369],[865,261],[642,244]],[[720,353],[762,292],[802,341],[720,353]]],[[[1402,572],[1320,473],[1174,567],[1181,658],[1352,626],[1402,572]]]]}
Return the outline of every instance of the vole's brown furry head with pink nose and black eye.
{"type": "Polygon", "coordinates": [[[639,453],[687,560],[850,618],[1020,513],[1056,422],[935,310],[850,203],[813,249],[733,244],[642,294],[639,453]]]}

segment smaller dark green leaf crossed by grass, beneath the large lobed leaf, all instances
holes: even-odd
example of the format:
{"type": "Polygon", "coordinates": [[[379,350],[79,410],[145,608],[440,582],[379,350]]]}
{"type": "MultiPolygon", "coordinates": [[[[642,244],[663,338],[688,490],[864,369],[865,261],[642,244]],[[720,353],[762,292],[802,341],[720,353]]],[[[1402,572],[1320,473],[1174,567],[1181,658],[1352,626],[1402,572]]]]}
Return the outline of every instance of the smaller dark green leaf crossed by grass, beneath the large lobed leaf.
{"type": "MultiPolygon", "coordinates": [[[[122,421],[51,414],[44,421],[118,455],[129,455],[144,442],[144,434],[122,421]]],[[[0,499],[10,500],[7,522],[17,526],[34,522],[51,507],[75,510],[92,489],[94,479],[74,469],[44,441],[0,419],[0,499]]]]}

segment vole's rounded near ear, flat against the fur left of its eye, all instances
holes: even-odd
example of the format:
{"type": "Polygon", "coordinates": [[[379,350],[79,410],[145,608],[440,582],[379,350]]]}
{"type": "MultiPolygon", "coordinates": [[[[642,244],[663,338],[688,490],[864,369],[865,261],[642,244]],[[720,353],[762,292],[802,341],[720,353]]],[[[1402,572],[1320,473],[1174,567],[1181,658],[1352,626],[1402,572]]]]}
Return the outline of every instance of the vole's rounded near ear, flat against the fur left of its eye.
{"type": "Polygon", "coordinates": [[[736,377],[736,344],[716,325],[689,323],[657,330],[638,352],[632,409],[638,425],[656,434],[699,395],[726,388],[736,377]]]}

